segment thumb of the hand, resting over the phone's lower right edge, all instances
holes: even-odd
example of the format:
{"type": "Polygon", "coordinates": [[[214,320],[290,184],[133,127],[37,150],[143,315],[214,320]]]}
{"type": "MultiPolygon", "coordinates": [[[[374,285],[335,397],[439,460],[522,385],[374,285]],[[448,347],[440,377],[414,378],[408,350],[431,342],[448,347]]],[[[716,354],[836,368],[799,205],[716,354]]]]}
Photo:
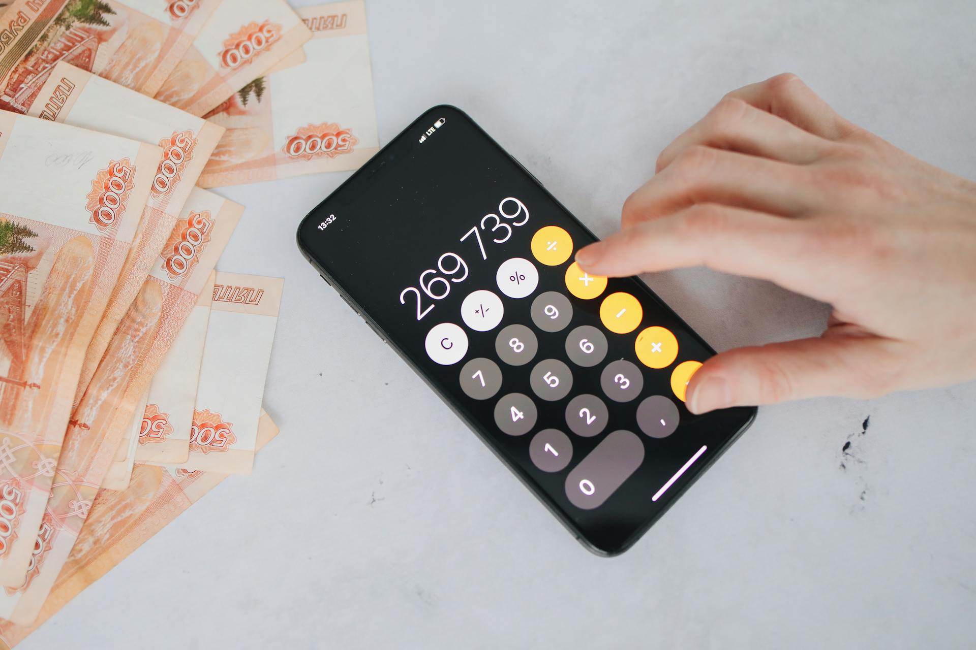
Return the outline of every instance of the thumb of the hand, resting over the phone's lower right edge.
{"type": "Polygon", "coordinates": [[[894,388],[890,339],[804,338],[712,357],[688,383],[688,410],[752,406],[828,395],[873,398],[894,388]]]}

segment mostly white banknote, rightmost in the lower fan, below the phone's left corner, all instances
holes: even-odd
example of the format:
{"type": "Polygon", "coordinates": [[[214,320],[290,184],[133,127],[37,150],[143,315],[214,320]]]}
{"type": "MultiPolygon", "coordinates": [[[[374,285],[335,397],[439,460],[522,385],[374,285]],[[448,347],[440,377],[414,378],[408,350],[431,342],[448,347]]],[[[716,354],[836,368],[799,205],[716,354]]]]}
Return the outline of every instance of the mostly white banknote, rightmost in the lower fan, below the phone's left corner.
{"type": "Polygon", "coordinates": [[[217,272],[200,363],[189,471],[251,474],[280,278],[217,272]]]}

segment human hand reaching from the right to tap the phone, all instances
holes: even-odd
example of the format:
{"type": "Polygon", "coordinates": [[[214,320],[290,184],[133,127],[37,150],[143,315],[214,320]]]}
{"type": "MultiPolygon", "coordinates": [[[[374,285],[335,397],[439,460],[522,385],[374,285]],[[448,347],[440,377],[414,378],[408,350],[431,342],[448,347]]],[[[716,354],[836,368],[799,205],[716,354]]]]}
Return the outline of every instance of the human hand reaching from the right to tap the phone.
{"type": "Polygon", "coordinates": [[[679,135],[621,222],[578,252],[583,269],[704,265],[834,308],[819,338],[707,361],[692,412],[976,377],[976,183],[856,127],[794,75],[730,93],[679,135]]]}

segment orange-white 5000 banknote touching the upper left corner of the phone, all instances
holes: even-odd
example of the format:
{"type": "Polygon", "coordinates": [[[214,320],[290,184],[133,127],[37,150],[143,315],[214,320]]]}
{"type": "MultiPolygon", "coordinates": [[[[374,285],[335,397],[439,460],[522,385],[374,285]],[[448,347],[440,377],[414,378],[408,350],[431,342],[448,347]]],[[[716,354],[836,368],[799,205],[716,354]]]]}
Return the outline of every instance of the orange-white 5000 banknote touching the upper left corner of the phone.
{"type": "Polygon", "coordinates": [[[299,14],[313,34],[305,63],[256,79],[207,115],[227,132],[201,187],[355,170],[379,150],[362,0],[299,14]]]}

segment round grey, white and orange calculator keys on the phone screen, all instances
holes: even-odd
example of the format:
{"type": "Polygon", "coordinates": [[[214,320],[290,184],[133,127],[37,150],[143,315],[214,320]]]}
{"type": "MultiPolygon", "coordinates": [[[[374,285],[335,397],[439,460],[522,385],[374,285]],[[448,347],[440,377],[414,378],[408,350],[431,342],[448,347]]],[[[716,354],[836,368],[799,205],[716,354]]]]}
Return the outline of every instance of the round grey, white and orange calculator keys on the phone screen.
{"type": "MultiPolygon", "coordinates": [[[[500,236],[504,230],[500,226],[500,236]]],[[[471,400],[494,400],[496,426],[507,436],[525,437],[519,443],[524,446],[517,448],[536,470],[547,475],[566,471],[560,480],[569,503],[593,510],[637,471],[654,440],[675,434],[681,413],[678,403],[701,363],[674,365],[679,346],[671,330],[645,323],[643,305],[635,295],[607,292],[607,278],[590,276],[576,262],[569,262],[573,241],[563,228],[540,228],[531,251],[534,261],[511,257],[500,263],[495,278],[499,293],[476,289],[465,298],[462,320],[473,331],[471,336],[488,336],[487,341],[494,342],[497,361],[468,360],[458,381],[471,400]],[[564,290],[537,292],[541,273],[561,274],[564,290]],[[506,320],[509,325],[501,326],[506,320]],[[608,361],[611,349],[614,356],[626,354],[615,337],[628,337],[631,352],[608,361]],[[524,369],[504,370],[504,365],[524,369]],[[515,378],[519,372],[525,373],[527,382],[515,378]],[[645,372],[652,393],[670,385],[673,395],[644,394],[645,372]],[[660,374],[651,380],[654,373],[660,374]],[[574,385],[579,383],[574,374],[590,393],[574,395],[574,385]],[[508,392],[503,394],[506,385],[508,392]],[[563,414],[563,422],[551,421],[549,403],[555,413],[563,414]],[[611,430],[611,422],[620,418],[626,429],[611,430]],[[537,424],[544,428],[537,429],[537,424]],[[584,453],[574,449],[574,442],[584,453]]],[[[550,278],[544,280],[544,287],[552,286],[550,278]]],[[[427,335],[427,353],[437,363],[458,363],[467,351],[468,333],[458,325],[435,325],[427,335]]]]}

